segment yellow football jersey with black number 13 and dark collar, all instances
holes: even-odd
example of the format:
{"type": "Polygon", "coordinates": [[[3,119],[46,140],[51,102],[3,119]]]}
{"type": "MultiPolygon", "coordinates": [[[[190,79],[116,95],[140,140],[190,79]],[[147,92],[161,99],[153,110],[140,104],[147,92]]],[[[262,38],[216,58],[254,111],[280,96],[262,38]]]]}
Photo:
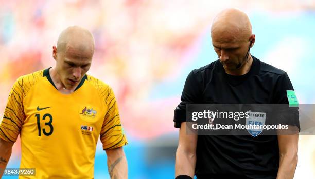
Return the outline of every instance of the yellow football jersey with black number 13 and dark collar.
{"type": "Polygon", "coordinates": [[[62,94],[49,69],[19,77],[10,92],[0,138],[15,142],[19,134],[20,168],[36,169],[20,178],[93,178],[98,137],[104,150],[127,144],[107,84],[85,75],[73,93],[62,94]]]}

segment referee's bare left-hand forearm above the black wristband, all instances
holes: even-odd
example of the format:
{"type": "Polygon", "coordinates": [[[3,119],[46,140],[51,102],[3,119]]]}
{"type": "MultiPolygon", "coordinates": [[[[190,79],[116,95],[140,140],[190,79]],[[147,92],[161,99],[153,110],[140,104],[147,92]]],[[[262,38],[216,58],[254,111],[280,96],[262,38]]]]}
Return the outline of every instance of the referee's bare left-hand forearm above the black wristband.
{"type": "Polygon", "coordinates": [[[180,147],[176,151],[175,177],[188,175],[194,178],[196,167],[196,153],[184,151],[180,147]]]}

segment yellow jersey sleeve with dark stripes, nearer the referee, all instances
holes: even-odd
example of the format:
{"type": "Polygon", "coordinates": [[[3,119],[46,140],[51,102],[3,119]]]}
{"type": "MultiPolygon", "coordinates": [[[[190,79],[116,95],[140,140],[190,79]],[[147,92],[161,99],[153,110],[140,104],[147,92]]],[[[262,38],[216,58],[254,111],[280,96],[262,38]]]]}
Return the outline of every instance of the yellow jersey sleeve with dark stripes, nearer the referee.
{"type": "Polygon", "coordinates": [[[111,88],[109,88],[109,94],[105,103],[108,106],[108,110],[104,117],[100,140],[103,143],[103,149],[107,150],[124,146],[128,144],[128,141],[120,123],[118,105],[111,88]]]}

